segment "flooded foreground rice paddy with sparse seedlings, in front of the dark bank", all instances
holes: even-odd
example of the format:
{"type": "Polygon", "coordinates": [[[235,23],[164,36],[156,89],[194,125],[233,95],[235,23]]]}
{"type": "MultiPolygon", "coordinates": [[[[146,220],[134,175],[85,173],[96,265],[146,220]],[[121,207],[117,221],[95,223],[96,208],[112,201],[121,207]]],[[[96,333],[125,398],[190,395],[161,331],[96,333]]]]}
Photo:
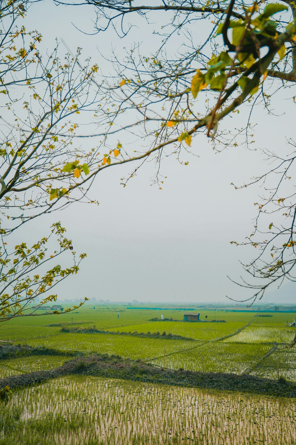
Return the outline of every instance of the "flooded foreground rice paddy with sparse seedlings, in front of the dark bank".
{"type": "Polygon", "coordinates": [[[6,444],[288,444],[288,399],[71,376],[0,406],[6,444]],[[82,436],[83,435],[83,436],[82,436]],[[279,441],[280,440],[280,441],[279,441]]]}

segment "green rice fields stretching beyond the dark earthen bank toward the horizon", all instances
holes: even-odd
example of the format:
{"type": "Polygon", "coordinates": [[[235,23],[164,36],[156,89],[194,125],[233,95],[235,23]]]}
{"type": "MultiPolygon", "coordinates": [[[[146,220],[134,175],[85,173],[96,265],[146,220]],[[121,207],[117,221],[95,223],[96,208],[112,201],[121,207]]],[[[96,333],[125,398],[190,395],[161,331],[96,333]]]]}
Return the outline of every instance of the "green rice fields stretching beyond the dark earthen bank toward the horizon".
{"type": "MultiPolygon", "coordinates": [[[[253,367],[252,372],[256,375],[274,376],[279,362],[280,374],[290,380],[295,379],[295,349],[286,348],[295,335],[295,328],[287,327],[286,321],[292,320],[295,314],[272,313],[272,317],[266,318],[255,316],[256,312],[214,313],[205,310],[200,314],[201,320],[207,315],[209,321],[184,322],[184,311],[177,310],[141,310],[106,305],[94,309],[85,306],[70,314],[20,317],[2,323],[0,340],[52,348],[63,353],[79,351],[140,359],[159,366],[163,366],[165,356],[167,368],[190,371],[201,370],[203,361],[205,372],[241,373],[253,367]],[[161,313],[166,319],[177,321],[151,321],[160,319],[161,313]],[[211,322],[215,319],[225,320],[225,323],[211,322]],[[61,332],[64,326],[93,327],[109,333],[65,333],[61,332]],[[158,338],[150,338],[155,333],[159,334],[158,338]],[[170,339],[170,334],[183,338],[170,339]],[[261,358],[275,343],[278,344],[276,350],[262,362],[261,358]]],[[[9,361],[10,366],[13,366],[13,360],[14,368],[28,372],[53,368],[61,359],[31,357],[30,362],[29,357],[16,358],[9,361]]]]}

